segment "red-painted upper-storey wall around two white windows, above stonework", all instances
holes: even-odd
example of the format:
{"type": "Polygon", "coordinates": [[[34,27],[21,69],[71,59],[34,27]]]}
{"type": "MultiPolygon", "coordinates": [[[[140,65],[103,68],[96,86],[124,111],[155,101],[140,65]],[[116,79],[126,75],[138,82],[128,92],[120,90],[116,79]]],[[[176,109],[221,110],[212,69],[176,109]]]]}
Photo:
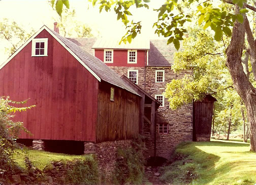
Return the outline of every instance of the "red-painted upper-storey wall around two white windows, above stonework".
{"type": "MultiPolygon", "coordinates": [[[[144,67],[146,65],[147,53],[145,50],[137,50],[137,63],[127,63],[127,50],[114,50],[113,63],[106,63],[108,66],[144,67]],[[145,57],[146,55],[146,57],[145,57]]],[[[104,50],[95,49],[95,57],[104,61],[104,50]]]]}

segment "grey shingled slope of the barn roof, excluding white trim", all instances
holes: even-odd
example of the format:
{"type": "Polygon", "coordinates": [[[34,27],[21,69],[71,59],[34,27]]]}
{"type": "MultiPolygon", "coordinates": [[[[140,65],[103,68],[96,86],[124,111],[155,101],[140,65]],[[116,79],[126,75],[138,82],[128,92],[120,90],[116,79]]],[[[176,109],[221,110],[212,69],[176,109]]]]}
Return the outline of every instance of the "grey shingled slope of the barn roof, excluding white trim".
{"type": "Polygon", "coordinates": [[[66,38],[63,38],[63,36],[59,35],[57,32],[51,29],[49,29],[49,31],[51,31],[76,56],[78,56],[82,60],[82,62],[84,62],[93,72],[95,72],[95,74],[98,77],[100,77],[101,80],[104,80],[112,85],[115,85],[117,87],[120,87],[122,89],[125,89],[127,91],[130,91],[138,95],[137,92],[135,92],[131,87],[129,87],[126,83],[124,83],[124,81],[100,59],[84,51],[82,48],[80,48],[78,45],[76,45],[72,41],[66,38]]]}

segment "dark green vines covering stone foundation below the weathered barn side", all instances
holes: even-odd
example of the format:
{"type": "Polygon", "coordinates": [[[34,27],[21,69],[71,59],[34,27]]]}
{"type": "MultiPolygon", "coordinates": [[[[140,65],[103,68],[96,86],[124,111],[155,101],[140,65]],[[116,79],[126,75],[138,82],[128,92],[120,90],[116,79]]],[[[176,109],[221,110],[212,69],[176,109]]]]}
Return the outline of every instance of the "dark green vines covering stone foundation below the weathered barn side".
{"type": "Polygon", "coordinates": [[[144,177],[145,160],[143,150],[145,144],[142,139],[132,142],[132,147],[117,150],[116,167],[113,174],[115,184],[141,184],[144,177]]]}

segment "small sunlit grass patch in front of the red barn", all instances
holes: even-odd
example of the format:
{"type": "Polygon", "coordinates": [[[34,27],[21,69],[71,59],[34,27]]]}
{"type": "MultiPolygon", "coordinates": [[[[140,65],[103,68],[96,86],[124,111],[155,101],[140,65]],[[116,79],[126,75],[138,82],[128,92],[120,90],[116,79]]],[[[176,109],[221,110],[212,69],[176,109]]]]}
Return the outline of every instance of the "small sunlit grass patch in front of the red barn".
{"type": "MultiPolygon", "coordinates": [[[[25,167],[24,164],[24,157],[26,156],[24,153],[19,153],[14,155],[16,162],[21,167],[25,167]]],[[[51,153],[51,152],[44,152],[44,151],[34,151],[34,150],[27,150],[27,156],[29,160],[38,167],[40,170],[44,169],[46,165],[51,164],[51,161],[58,161],[58,160],[73,160],[75,158],[79,159],[93,159],[91,155],[82,155],[82,156],[75,156],[75,155],[68,155],[68,154],[59,154],[59,153],[51,153]]]]}

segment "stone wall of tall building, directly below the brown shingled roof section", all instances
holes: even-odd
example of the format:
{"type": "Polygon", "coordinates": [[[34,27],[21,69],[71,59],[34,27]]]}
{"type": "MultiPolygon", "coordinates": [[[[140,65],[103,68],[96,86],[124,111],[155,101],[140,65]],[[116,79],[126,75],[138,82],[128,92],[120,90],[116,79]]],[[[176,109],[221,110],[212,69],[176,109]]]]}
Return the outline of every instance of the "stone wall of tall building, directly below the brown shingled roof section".
{"type": "MultiPolygon", "coordinates": [[[[167,83],[191,73],[191,70],[186,70],[177,75],[170,67],[147,67],[146,91],[152,97],[157,94],[163,94],[167,83]],[[155,83],[155,70],[163,69],[165,69],[165,82],[155,83]]],[[[192,141],[192,139],[193,105],[183,105],[179,109],[172,110],[169,108],[167,98],[165,98],[164,107],[159,107],[156,113],[156,156],[169,159],[178,143],[192,141]],[[159,123],[168,124],[167,134],[159,133],[159,123]]]]}

